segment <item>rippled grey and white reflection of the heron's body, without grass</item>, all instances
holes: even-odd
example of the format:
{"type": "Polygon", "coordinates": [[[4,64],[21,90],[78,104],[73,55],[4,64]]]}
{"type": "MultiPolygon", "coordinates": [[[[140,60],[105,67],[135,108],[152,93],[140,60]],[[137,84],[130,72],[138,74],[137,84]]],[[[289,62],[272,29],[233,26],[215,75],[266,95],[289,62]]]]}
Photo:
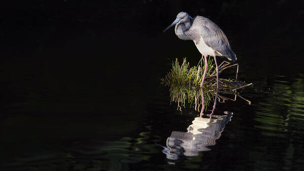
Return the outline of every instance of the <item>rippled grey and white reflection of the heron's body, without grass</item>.
{"type": "Polygon", "coordinates": [[[211,118],[196,117],[187,128],[187,132],[173,131],[166,140],[162,152],[168,159],[177,160],[179,156],[198,156],[200,151],[216,144],[224,131],[225,125],[231,120],[232,113],[212,115],[211,118]]]}

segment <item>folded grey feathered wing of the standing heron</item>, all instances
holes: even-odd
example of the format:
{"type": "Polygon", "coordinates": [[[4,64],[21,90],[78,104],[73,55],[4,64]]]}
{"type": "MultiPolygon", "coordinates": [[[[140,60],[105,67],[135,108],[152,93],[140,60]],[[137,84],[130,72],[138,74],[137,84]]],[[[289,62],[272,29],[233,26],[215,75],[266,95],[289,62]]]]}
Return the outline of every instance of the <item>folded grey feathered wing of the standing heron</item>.
{"type": "Polygon", "coordinates": [[[197,16],[192,26],[200,28],[200,36],[207,46],[226,56],[229,60],[237,60],[237,56],[231,50],[225,33],[218,25],[208,18],[197,16]]]}

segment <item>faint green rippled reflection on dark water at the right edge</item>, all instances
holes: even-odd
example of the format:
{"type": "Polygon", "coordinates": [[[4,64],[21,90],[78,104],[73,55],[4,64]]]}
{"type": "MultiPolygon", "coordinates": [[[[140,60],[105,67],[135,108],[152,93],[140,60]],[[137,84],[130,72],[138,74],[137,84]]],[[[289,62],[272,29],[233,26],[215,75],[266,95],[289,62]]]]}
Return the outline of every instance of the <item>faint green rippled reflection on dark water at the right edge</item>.
{"type": "Polygon", "coordinates": [[[290,132],[297,127],[297,133],[304,128],[304,79],[297,77],[275,77],[273,92],[257,104],[254,120],[260,124],[255,127],[267,136],[286,136],[280,132],[290,132]],[[282,80],[283,79],[283,80],[282,80]],[[287,80],[287,81],[285,81],[287,80]],[[269,132],[275,131],[275,132],[269,132]]]}

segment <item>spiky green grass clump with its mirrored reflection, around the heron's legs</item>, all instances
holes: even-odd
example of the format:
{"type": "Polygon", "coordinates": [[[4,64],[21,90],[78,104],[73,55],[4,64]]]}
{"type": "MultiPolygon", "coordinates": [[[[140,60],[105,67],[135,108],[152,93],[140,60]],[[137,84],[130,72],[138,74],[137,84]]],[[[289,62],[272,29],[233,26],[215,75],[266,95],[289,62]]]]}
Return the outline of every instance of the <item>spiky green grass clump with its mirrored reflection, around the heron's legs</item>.
{"type": "MultiPolygon", "coordinates": [[[[200,88],[202,88],[204,92],[205,110],[207,110],[210,101],[214,101],[216,94],[215,64],[213,63],[213,59],[209,57],[204,85],[200,87],[200,82],[205,69],[205,66],[202,66],[202,63],[204,62],[200,60],[196,66],[190,67],[186,58],[184,58],[181,65],[176,59],[175,62],[172,63],[172,70],[161,79],[161,84],[170,87],[171,102],[177,102],[179,110],[181,110],[181,107],[186,108],[185,105],[188,103],[190,108],[194,107],[195,110],[199,111],[202,101],[200,88]]],[[[238,65],[230,64],[229,62],[226,62],[226,64],[223,63],[219,65],[219,73],[223,72],[228,67],[238,65]]],[[[233,94],[236,98],[238,95],[237,89],[251,85],[246,84],[245,82],[236,81],[236,79],[237,75],[235,79],[219,79],[219,93],[233,94]]],[[[220,95],[219,93],[217,98],[220,102],[231,99],[220,95]]],[[[241,98],[243,97],[241,96],[241,98]]]]}

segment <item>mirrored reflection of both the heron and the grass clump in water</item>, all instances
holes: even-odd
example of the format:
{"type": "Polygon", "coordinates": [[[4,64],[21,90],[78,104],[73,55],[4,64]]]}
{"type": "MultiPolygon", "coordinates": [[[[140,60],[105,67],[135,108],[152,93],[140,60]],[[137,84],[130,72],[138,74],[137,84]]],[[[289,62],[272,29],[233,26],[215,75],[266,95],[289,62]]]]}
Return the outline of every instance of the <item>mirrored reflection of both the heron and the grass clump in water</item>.
{"type": "Polygon", "coordinates": [[[236,91],[252,85],[245,82],[222,80],[219,86],[199,88],[170,82],[165,82],[165,85],[170,87],[171,101],[177,102],[180,111],[182,111],[181,106],[185,107],[187,104],[200,112],[199,117],[196,117],[188,126],[187,132],[173,131],[166,140],[166,146],[159,145],[163,148],[162,153],[166,155],[166,158],[172,160],[177,160],[180,156],[198,156],[199,152],[210,151],[209,147],[216,144],[216,140],[220,138],[233,114],[226,111],[223,115],[217,115],[215,111],[217,101],[220,103],[227,100],[235,101],[239,96],[250,104],[249,100],[236,91]],[[211,101],[213,101],[213,108],[209,113],[206,109],[211,101]]]}

